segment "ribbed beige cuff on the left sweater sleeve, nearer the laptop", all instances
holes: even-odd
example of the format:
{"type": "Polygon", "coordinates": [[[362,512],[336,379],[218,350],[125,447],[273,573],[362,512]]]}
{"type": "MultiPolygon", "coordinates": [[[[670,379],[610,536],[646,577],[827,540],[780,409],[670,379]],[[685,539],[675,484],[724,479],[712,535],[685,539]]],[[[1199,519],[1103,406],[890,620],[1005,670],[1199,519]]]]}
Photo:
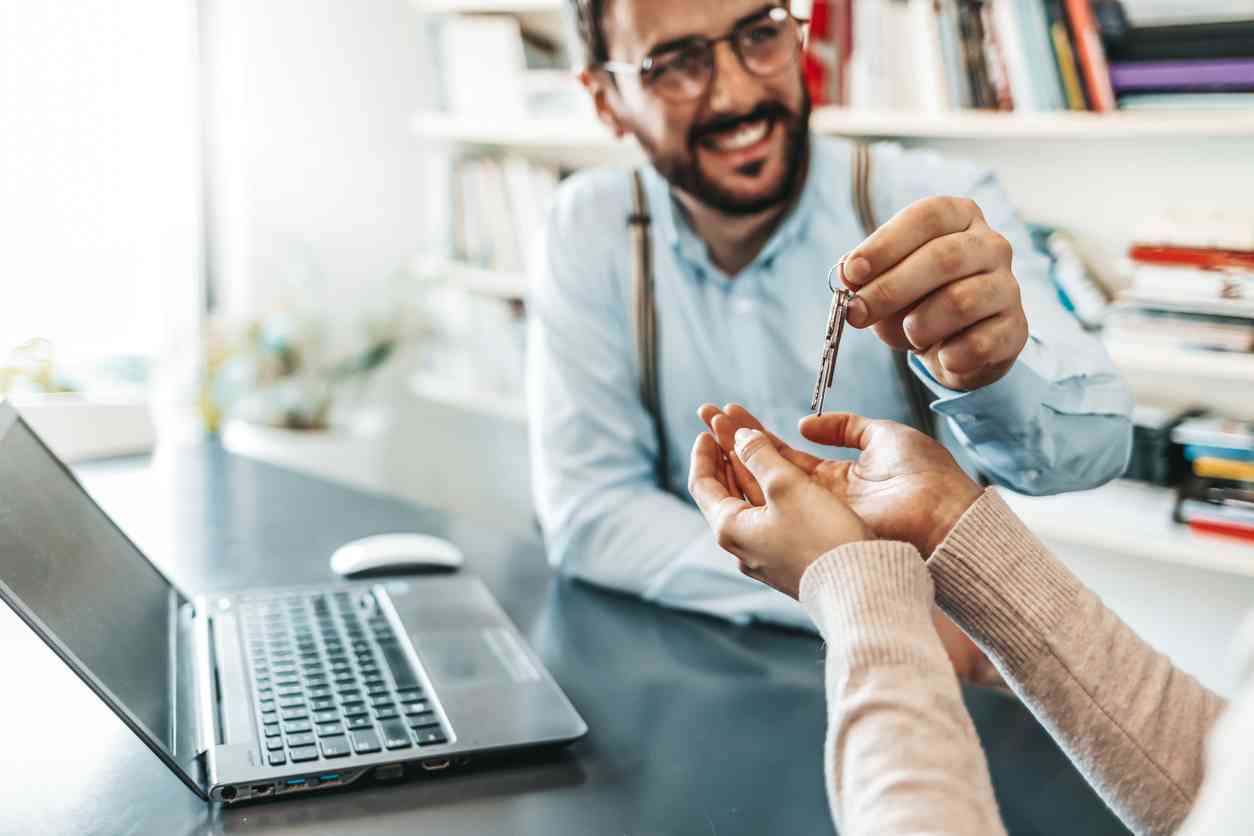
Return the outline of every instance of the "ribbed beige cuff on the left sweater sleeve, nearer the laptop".
{"type": "Polygon", "coordinates": [[[849,543],[810,564],[799,599],[849,668],[924,664],[917,630],[932,630],[932,578],[908,543],[849,543]]]}

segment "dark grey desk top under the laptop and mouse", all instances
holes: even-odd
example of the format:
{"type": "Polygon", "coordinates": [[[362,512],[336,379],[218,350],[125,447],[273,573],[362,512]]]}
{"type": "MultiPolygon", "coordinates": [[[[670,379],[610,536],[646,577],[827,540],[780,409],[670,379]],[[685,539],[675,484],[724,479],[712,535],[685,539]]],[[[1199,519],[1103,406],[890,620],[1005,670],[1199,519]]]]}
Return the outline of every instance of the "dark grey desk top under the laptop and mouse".
{"type": "MultiPolygon", "coordinates": [[[[329,579],[331,550],[372,533],[450,538],[592,732],[557,757],[497,771],[222,810],[188,792],[0,607],[0,832],[831,832],[813,637],[557,580],[537,543],[216,447],[148,464],[79,473],[184,590],[329,579]]],[[[977,691],[968,704],[1012,833],[1126,832],[1023,708],[977,691]]]]}

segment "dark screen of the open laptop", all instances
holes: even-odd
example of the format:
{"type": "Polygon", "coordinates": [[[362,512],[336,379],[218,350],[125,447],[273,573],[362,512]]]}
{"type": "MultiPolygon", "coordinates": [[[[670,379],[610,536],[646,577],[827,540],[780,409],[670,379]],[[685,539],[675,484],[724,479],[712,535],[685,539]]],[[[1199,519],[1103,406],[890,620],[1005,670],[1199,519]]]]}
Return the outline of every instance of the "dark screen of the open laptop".
{"type": "Polygon", "coordinates": [[[0,583],[167,751],[178,592],[0,404],[0,583]]]}

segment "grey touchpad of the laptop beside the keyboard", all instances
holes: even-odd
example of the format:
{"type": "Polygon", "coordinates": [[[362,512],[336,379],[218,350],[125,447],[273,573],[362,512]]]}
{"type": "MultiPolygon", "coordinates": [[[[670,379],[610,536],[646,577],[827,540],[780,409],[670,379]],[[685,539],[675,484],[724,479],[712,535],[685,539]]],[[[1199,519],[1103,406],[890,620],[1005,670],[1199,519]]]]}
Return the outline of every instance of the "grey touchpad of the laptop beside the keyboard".
{"type": "Polygon", "coordinates": [[[513,633],[500,628],[426,633],[414,637],[436,684],[477,686],[534,682],[539,672],[513,633]]]}

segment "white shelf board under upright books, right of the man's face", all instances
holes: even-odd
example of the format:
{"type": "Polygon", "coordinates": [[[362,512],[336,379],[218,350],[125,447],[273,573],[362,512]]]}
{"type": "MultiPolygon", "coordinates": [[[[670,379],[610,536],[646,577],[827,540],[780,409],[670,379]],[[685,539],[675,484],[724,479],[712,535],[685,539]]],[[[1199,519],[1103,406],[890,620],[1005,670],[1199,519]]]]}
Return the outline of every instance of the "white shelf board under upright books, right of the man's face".
{"type": "Polygon", "coordinates": [[[910,113],[815,108],[816,133],[927,139],[1254,138],[1254,110],[1189,113],[910,113]]]}

